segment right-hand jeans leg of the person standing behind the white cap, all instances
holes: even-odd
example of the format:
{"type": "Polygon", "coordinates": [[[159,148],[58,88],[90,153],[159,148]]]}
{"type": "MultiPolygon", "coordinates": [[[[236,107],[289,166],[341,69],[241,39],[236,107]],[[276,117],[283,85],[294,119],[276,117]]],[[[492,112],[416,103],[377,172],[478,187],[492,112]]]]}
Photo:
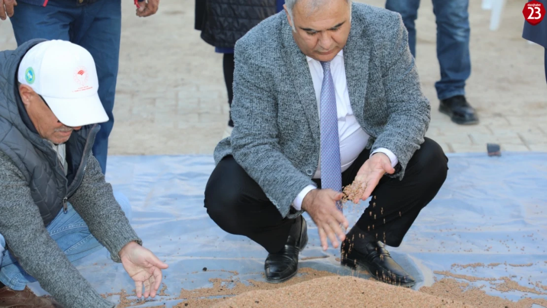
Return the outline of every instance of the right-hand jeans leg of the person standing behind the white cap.
{"type": "Polygon", "coordinates": [[[99,81],[98,95],[108,121],[101,123],[97,133],[93,154],[97,158],[103,173],[106,173],[108,137],[114,126],[114,96],[118,77],[118,62],[121,36],[121,1],[99,0],[85,5],[78,24],[75,24],[72,42],[87,49],[97,67],[99,81]]]}

